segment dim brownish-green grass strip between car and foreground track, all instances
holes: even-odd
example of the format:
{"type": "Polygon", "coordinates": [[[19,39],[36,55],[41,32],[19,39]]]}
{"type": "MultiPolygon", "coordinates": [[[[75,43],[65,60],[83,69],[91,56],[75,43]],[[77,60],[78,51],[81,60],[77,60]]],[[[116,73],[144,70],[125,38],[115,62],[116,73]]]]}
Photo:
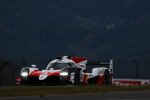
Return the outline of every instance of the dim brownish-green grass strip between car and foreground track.
{"type": "Polygon", "coordinates": [[[150,86],[13,86],[0,88],[0,97],[150,90],[150,86]]]}

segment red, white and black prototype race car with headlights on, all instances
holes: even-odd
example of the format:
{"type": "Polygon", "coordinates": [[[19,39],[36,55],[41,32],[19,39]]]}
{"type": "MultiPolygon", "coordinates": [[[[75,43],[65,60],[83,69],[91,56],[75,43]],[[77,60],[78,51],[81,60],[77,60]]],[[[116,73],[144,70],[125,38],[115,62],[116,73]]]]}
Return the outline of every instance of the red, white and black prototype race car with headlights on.
{"type": "Polygon", "coordinates": [[[98,84],[111,85],[113,61],[89,62],[85,57],[63,56],[40,71],[36,65],[23,67],[17,84],[98,84]]]}

